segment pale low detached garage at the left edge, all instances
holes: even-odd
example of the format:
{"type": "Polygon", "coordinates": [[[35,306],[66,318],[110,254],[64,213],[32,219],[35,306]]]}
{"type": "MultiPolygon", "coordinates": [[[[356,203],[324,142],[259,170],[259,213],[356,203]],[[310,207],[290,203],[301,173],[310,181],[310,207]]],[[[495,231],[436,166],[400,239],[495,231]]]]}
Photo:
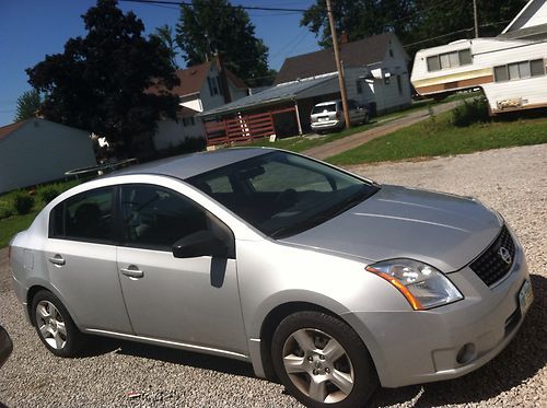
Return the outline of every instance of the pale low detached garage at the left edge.
{"type": "Polygon", "coordinates": [[[0,193],[63,178],[96,165],[90,133],[44,119],[0,128],[0,193]]]}

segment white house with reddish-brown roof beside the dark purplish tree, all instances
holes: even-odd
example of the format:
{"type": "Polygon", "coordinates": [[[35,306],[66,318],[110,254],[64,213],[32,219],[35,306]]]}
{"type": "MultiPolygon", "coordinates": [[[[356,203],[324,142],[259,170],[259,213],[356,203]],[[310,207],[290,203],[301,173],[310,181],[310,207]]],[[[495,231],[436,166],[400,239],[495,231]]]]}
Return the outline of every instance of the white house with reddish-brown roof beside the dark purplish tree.
{"type": "Polygon", "coordinates": [[[247,86],[224,68],[228,95],[222,86],[222,75],[218,60],[203,62],[176,71],[181,81],[171,92],[179,98],[178,120],[162,120],[158,124],[154,136],[156,150],[167,149],[184,142],[188,138],[205,137],[202,119],[199,113],[218,107],[226,101],[247,96],[247,86]]]}

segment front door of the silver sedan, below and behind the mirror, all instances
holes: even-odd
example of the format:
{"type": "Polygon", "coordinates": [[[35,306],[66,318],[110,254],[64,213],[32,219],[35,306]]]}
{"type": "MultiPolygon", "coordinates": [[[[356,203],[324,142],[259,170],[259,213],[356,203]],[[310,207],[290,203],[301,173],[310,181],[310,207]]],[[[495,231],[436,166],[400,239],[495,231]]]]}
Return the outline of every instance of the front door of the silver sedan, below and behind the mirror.
{"type": "Polygon", "coordinates": [[[120,219],[117,261],[135,333],[246,354],[234,257],[172,252],[198,231],[230,230],[181,194],[147,184],[121,186],[120,219]]]}

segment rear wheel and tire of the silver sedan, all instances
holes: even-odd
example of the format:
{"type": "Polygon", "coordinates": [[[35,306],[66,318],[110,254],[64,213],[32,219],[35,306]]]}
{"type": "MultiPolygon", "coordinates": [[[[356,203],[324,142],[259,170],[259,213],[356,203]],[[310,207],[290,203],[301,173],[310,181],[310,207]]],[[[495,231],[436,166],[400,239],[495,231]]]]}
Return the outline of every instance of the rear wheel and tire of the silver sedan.
{"type": "Polygon", "coordinates": [[[83,346],[83,335],[67,308],[51,292],[37,292],[32,302],[36,333],[46,348],[58,357],[74,357],[83,346]]]}

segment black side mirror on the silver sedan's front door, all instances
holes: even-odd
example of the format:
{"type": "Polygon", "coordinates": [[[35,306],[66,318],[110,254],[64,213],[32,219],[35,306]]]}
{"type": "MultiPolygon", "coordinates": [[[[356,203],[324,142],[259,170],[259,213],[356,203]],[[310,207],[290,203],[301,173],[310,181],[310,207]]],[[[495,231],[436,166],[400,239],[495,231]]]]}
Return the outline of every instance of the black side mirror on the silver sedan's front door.
{"type": "Polygon", "coordinates": [[[198,231],[173,244],[175,258],[196,258],[199,256],[228,257],[228,246],[211,231],[198,231]]]}

